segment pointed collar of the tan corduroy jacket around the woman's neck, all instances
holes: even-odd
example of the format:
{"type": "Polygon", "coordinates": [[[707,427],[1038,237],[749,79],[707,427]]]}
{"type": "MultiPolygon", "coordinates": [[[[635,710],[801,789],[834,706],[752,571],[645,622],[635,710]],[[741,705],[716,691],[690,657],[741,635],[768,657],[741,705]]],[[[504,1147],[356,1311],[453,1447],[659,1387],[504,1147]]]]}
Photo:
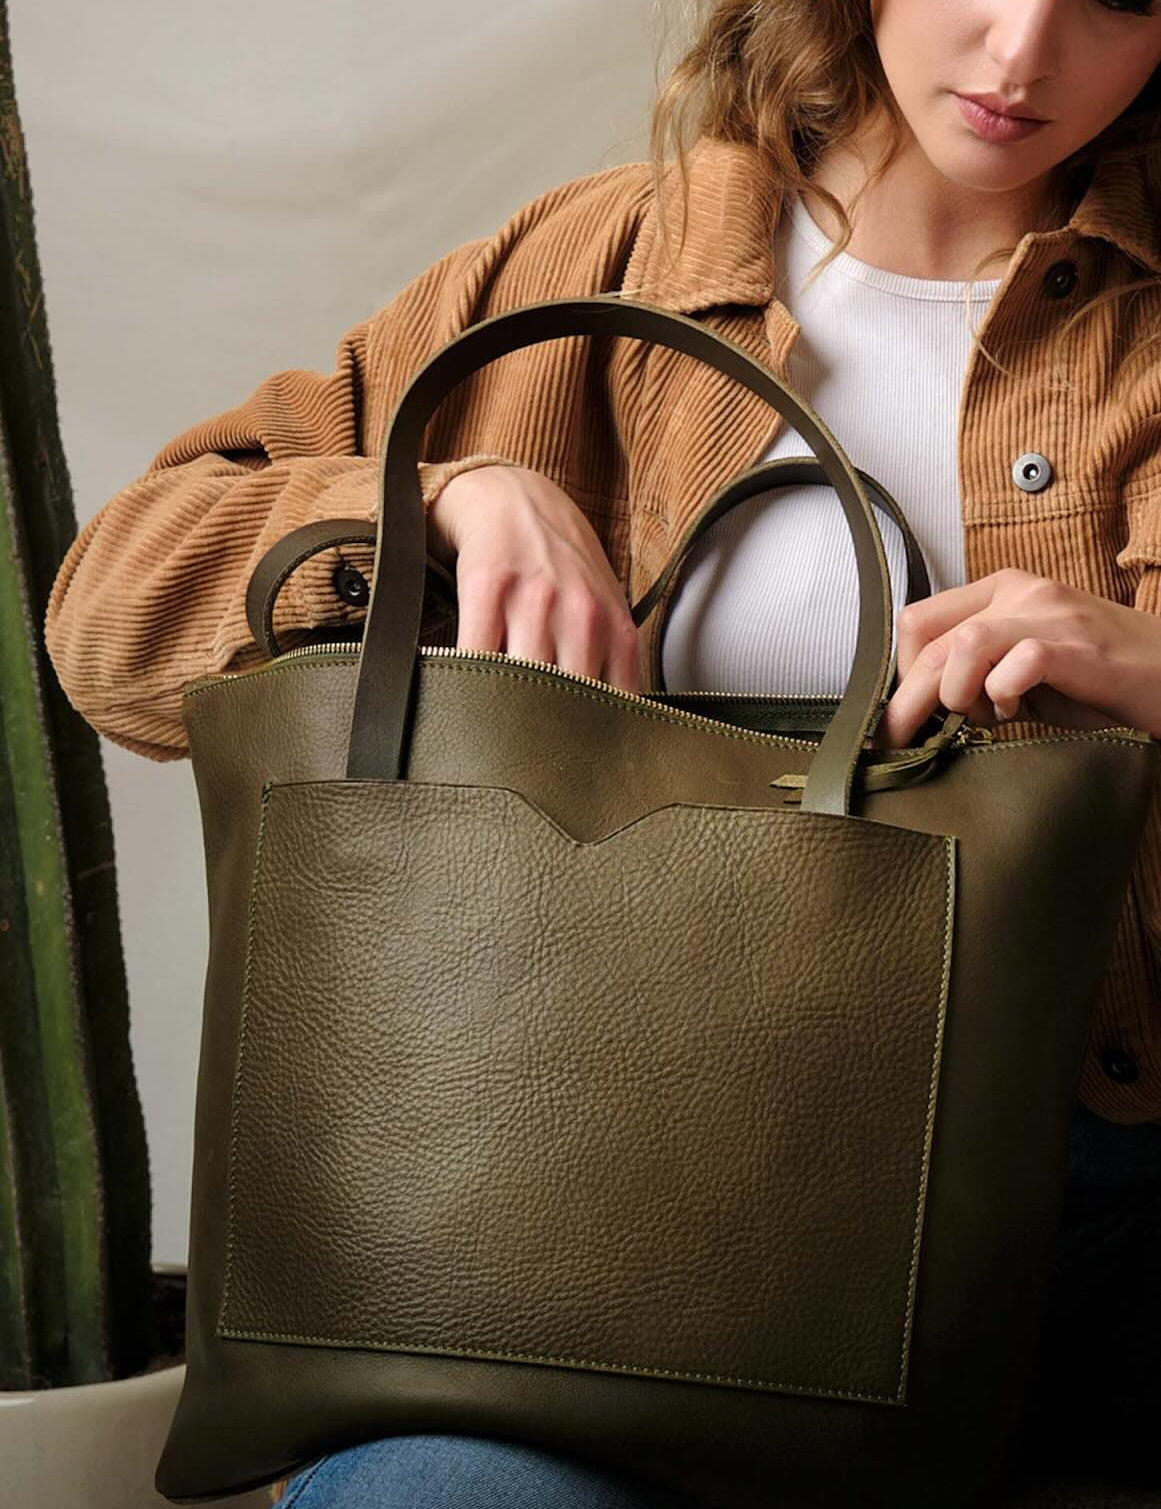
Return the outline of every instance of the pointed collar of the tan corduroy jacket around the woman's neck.
{"type": "MultiPolygon", "coordinates": [[[[657,201],[651,201],[622,293],[675,314],[696,314],[722,303],[771,303],[781,201],[761,187],[755,148],[702,136],[688,151],[688,171],[685,244],[670,266],[657,201]]],[[[663,180],[663,199],[675,240],[681,228],[681,177],[672,164],[663,180]]],[[[1161,210],[1141,163],[1098,164],[1067,229],[1108,241],[1161,273],[1161,210]]],[[[1042,235],[1060,231],[1030,232],[1024,241],[1042,235]]]]}

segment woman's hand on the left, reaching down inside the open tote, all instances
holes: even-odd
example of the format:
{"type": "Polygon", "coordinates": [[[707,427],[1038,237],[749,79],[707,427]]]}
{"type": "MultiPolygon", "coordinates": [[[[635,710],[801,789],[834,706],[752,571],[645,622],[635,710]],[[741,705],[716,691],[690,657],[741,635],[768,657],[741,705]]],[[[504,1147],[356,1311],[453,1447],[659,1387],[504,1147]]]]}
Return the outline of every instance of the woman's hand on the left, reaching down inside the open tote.
{"type": "Polygon", "coordinates": [[[522,466],[460,472],[427,509],[427,548],[456,572],[457,649],[503,650],[640,690],[637,626],[593,527],[522,466]]]}

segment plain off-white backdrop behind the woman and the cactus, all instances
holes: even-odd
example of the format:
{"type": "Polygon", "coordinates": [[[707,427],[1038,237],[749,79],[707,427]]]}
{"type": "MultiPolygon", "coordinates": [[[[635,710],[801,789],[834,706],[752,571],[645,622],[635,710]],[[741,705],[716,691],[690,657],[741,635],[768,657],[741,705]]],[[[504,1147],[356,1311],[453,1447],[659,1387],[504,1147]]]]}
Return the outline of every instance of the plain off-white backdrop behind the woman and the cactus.
{"type": "MultiPolygon", "coordinates": [[[[651,0],[9,0],[83,524],[187,426],[553,184],[648,154],[651,0]]],[[[154,1259],[184,1263],[205,963],[187,764],[107,744],[154,1259]]]]}

